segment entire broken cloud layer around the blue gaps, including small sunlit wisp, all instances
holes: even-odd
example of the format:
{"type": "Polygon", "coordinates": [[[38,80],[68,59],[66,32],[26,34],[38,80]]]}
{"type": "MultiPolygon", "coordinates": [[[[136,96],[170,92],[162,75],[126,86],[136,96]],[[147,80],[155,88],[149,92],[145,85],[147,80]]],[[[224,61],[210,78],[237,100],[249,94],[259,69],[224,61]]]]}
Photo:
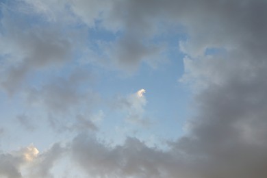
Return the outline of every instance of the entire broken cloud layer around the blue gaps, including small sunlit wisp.
{"type": "MultiPolygon", "coordinates": [[[[266,177],[265,1],[18,3],[21,8],[1,3],[1,88],[10,95],[23,92],[27,105],[37,105],[51,116],[51,126],[60,123],[61,129],[75,131],[76,135],[64,140],[66,144],[55,143],[38,154],[34,146],[0,153],[1,176],[54,177],[55,162],[65,156],[88,177],[266,177]],[[62,14],[68,15],[60,21],[62,14]],[[35,23],[35,18],[42,23],[35,23]],[[168,51],[164,41],[155,40],[161,31],[168,30],[169,26],[162,27],[162,23],[184,28],[186,40],[177,41],[185,68],[179,81],[194,90],[189,131],[166,142],[166,150],[148,147],[138,138],[111,146],[94,133],[87,133],[98,131],[90,114],[100,100],[94,98],[95,92],[88,92],[92,87],[88,78],[81,77],[88,74],[64,68],[58,74],[64,77],[41,84],[28,81],[34,78],[30,73],[40,75],[51,70],[56,74],[68,62],[79,68],[83,49],[94,51],[88,58],[97,62],[88,61],[96,68],[131,73],[142,62],[153,66],[168,51]],[[89,39],[79,41],[84,29],[104,29],[114,40],[91,40],[88,34],[89,39]],[[80,33],[73,33],[76,30],[80,33]]],[[[128,120],[144,120],[147,100],[143,93],[139,90],[118,99],[128,120]]],[[[32,129],[25,115],[17,120],[32,129]]]]}

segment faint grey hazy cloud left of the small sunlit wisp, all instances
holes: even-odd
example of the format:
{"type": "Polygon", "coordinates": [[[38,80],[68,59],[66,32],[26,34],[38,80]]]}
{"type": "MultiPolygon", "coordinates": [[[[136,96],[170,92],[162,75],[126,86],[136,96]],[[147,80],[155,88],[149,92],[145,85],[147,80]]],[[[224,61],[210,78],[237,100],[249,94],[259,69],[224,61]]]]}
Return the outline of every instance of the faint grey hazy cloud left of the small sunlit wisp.
{"type": "Polygon", "coordinates": [[[53,77],[40,86],[29,88],[25,91],[25,99],[29,105],[39,106],[48,113],[83,110],[99,100],[97,93],[90,88],[91,84],[92,74],[83,68],[76,68],[67,77],[53,77]]]}

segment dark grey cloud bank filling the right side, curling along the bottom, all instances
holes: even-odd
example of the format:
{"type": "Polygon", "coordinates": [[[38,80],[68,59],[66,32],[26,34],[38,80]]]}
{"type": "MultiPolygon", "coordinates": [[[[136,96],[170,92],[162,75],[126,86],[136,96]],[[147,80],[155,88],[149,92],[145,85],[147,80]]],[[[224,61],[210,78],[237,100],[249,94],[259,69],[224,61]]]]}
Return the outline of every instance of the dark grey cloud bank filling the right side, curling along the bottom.
{"type": "MultiPolygon", "coordinates": [[[[103,7],[97,4],[100,9],[103,7]]],[[[134,63],[132,60],[140,62],[140,56],[149,53],[150,47],[142,47],[139,39],[150,38],[149,31],[153,33],[157,19],[168,19],[186,27],[190,38],[179,44],[187,56],[181,81],[193,84],[196,90],[195,113],[188,120],[190,129],[185,136],[168,142],[168,151],[147,147],[137,138],[127,138],[125,144],[109,147],[82,133],[68,146],[52,148],[49,153],[53,155],[54,150],[68,153],[73,164],[92,177],[267,177],[266,1],[105,1],[104,5],[107,14],[103,13],[103,25],[114,30],[116,27],[110,25],[114,21],[118,28],[125,30],[125,36],[118,40],[118,51],[121,51],[115,56],[135,56],[135,59],[127,58],[130,64],[134,63]],[[135,55],[131,55],[131,48],[135,55]],[[207,49],[222,52],[209,54],[207,49]]],[[[86,18],[89,14],[79,15],[86,18]]],[[[50,55],[66,55],[69,47],[60,46],[64,38],[52,37],[58,41],[55,49],[60,51],[50,55]]],[[[21,40],[16,42],[20,45],[21,40]]],[[[38,36],[29,40],[29,44],[38,44],[36,48],[46,47],[43,42],[38,36]]],[[[29,53],[18,67],[28,63],[40,66],[38,61],[31,62],[36,53],[29,53]]],[[[42,55],[42,58],[48,57],[42,55]]],[[[10,71],[9,76],[15,72],[10,71]]],[[[4,83],[6,88],[11,85],[4,83]]],[[[36,174],[52,177],[47,171],[53,166],[50,165],[53,159],[42,156],[51,160],[45,165],[38,164],[40,173],[36,174]]],[[[6,153],[0,157],[1,176],[22,177],[20,156],[6,153]]]]}

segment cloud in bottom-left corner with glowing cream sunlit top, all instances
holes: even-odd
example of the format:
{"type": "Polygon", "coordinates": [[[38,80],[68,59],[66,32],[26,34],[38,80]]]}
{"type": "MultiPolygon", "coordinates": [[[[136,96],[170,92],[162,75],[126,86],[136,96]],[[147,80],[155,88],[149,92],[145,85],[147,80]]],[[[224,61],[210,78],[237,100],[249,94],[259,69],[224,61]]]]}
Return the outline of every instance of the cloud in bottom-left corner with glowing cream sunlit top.
{"type": "Polygon", "coordinates": [[[53,177],[51,168],[65,152],[66,148],[63,148],[60,143],[55,143],[42,153],[34,147],[34,144],[18,151],[1,153],[0,176],[8,178],[53,177]]]}

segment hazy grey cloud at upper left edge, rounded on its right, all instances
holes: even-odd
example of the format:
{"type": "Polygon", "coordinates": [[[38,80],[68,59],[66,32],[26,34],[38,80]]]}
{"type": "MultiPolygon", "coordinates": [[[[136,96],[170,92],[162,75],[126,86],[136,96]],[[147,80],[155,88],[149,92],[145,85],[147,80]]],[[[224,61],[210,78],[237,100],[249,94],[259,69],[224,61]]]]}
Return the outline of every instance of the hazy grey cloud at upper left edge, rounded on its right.
{"type": "Polygon", "coordinates": [[[29,72],[70,60],[71,43],[59,31],[45,27],[21,29],[16,26],[21,22],[10,24],[10,21],[12,19],[3,24],[8,33],[1,36],[1,54],[6,56],[1,69],[1,85],[12,94],[29,72]]]}

